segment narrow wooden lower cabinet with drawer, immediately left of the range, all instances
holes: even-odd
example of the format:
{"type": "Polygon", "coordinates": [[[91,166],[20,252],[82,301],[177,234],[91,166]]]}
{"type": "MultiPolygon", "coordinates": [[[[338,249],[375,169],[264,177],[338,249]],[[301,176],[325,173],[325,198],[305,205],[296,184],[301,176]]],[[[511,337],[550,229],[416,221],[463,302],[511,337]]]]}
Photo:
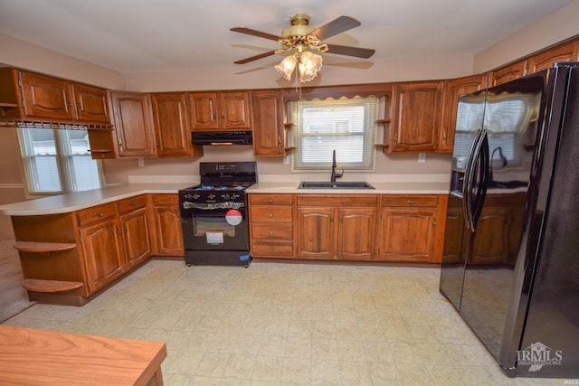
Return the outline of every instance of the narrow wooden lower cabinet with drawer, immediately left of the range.
{"type": "Polygon", "coordinates": [[[152,202],[152,230],[155,234],[153,254],[185,256],[183,229],[178,194],[150,194],[152,202]]]}

